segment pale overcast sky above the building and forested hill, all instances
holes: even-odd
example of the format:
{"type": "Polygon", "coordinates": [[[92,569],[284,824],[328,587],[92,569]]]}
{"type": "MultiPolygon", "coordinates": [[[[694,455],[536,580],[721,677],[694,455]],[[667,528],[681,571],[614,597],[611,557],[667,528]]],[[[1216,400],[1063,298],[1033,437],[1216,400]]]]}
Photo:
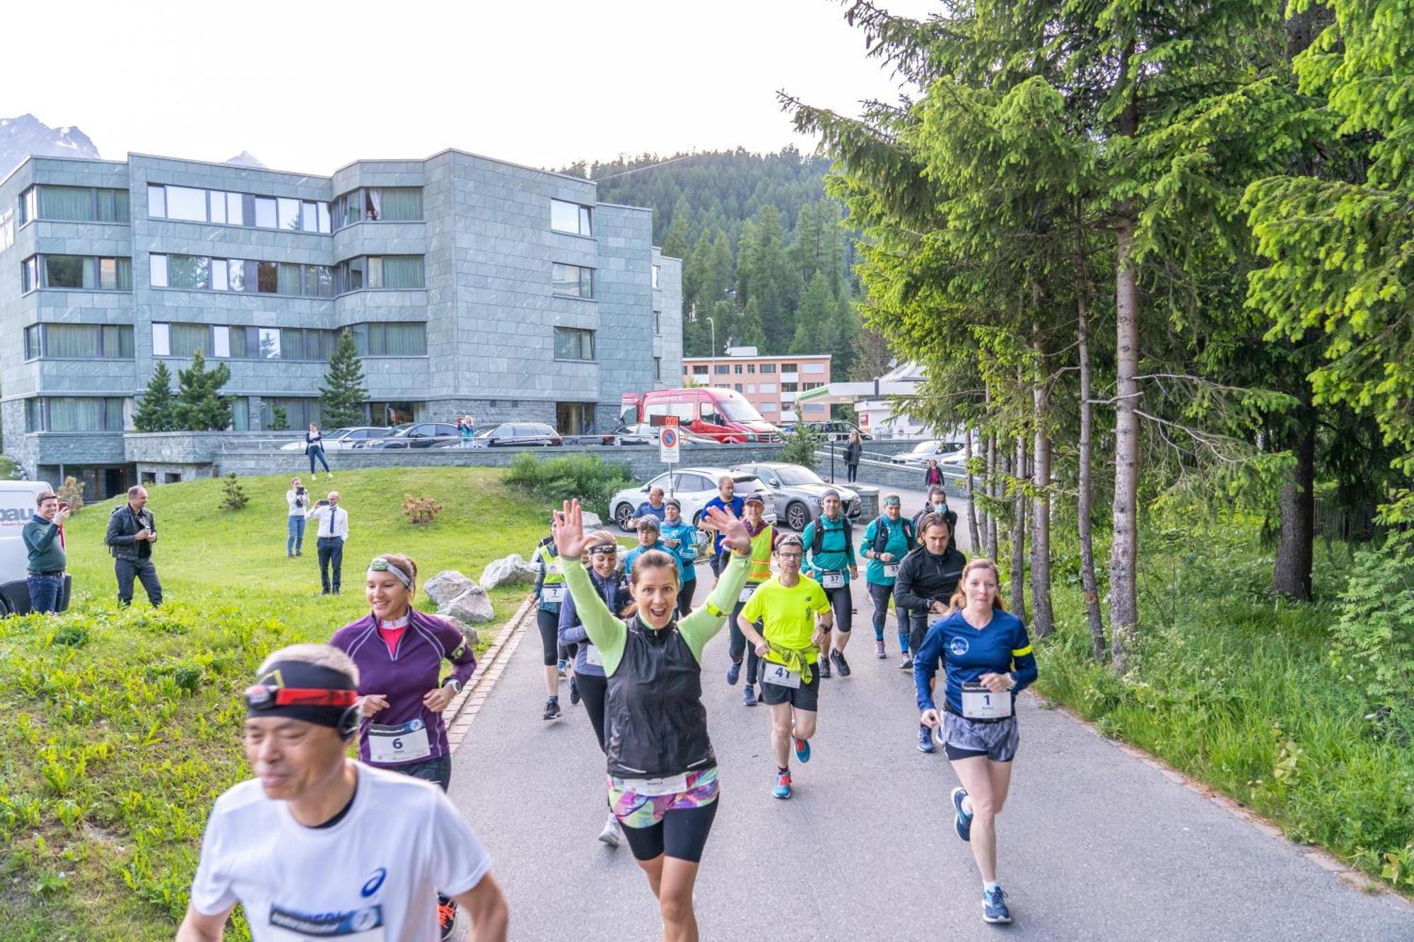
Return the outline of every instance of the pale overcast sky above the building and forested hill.
{"type": "Polygon", "coordinates": [[[536,167],[810,150],[776,89],[848,113],[898,93],[843,13],[831,0],[25,3],[6,11],[0,117],[76,124],[109,158],[249,150],[320,174],[445,147],[536,167]]]}

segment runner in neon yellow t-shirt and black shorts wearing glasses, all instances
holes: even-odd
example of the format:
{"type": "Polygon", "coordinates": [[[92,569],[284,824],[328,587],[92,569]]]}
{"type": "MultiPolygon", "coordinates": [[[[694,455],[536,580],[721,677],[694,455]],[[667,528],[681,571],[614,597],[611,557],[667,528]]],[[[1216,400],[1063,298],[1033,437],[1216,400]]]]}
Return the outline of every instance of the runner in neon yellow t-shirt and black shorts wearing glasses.
{"type": "Polygon", "coordinates": [[[771,707],[771,750],[776,758],[776,786],[772,795],[790,798],[790,745],[796,758],[810,761],[820,709],[820,675],[812,670],[820,648],[830,636],[830,600],[820,583],[800,574],[805,545],[795,533],[776,543],[781,571],[751,594],[737,615],[737,625],[754,651],[765,658],[761,666],[761,699],[771,707]],[[756,632],[755,622],[765,625],[756,632]]]}

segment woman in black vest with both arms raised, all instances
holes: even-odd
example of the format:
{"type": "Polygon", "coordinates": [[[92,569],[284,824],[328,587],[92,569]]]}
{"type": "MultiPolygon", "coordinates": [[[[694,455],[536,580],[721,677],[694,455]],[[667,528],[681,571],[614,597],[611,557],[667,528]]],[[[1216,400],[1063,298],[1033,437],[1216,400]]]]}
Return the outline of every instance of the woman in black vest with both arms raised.
{"type": "Polygon", "coordinates": [[[566,502],[554,530],[564,550],[566,581],[609,679],[609,803],[659,900],[663,939],[673,942],[699,938],[693,885],[717,815],[717,757],[701,703],[701,652],[741,594],[751,553],[740,521],[715,508],[707,513],[732,560],[707,604],[680,620],[677,567],[670,557],[645,553],[638,560],[629,581],[638,614],[621,621],[580,563],[590,540],[578,501],[566,502]]]}

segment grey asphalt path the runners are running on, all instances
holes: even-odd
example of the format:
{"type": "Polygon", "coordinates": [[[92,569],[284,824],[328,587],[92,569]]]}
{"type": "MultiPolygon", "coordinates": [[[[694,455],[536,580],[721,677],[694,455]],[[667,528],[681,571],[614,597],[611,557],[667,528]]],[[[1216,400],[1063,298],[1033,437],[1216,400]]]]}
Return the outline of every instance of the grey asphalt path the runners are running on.
{"type": "MultiPolygon", "coordinates": [[[[699,583],[700,603],[708,567],[699,583]]],[[[823,680],[813,757],[792,761],[789,801],[771,795],[766,707],[744,707],[742,687],[725,683],[725,629],[704,651],[721,806],[697,881],[703,939],[1414,939],[1407,907],[1348,887],[1029,694],[998,819],[1015,922],[983,924],[980,878],[952,829],[956,777],[940,751],[916,750],[912,676],[892,625],[888,658],[874,659],[858,595],[853,676],[823,680]]],[[[451,798],[509,900],[510,938],[660,938],[628,846],[597,840],[604,757],[584,707],[561,685],[566,714],[543,721],[540,685],[532,625],[452,769],[451,798]]]]}

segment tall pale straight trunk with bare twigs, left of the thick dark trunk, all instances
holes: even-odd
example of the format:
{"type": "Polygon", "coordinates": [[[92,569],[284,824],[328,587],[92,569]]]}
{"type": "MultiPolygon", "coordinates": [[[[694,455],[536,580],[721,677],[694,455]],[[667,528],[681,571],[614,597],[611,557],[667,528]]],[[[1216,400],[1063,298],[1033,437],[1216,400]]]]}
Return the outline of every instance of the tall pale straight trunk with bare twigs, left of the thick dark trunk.
{"type": "Polygon", "coordinates": [[[1131,260],[1133,216],[1117,225],[1114,272],[1114,540],[1110,545],[1110,631],[1114,668],[1128,666],[1130,644],[1138,627],[1138,484],[1140,484],[1140,286],[1131,260]]]}

